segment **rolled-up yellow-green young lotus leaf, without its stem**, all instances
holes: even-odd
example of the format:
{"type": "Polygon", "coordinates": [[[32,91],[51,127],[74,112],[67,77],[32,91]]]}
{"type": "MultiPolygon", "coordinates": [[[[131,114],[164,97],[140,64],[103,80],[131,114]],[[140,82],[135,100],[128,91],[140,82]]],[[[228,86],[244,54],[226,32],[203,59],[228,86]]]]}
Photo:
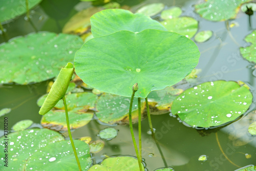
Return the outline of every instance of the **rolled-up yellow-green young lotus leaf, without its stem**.
{"type": "Polygon", "coordinates": [[[61,68],[56,81],[53,83],[52,88],[44,102],[42,104],[39,114],[45,115],[49,112],[55,104],[65,96],[71,77],[74,73],[74,66],[72,63],[68,63],[65,68],[61,68]]]}

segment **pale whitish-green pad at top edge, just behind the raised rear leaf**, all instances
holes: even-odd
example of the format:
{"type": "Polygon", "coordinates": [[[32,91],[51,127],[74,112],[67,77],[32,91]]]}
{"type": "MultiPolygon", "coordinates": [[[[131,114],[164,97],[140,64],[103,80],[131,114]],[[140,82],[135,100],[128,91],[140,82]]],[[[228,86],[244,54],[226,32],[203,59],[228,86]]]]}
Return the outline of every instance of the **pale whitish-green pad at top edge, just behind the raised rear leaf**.
{"type": "Polygon", "coordinates": [[[142,13],[147,16],[154,16],[164,9],[163,3],[148,4],[139,8],[136,13],[142,13]]]}

